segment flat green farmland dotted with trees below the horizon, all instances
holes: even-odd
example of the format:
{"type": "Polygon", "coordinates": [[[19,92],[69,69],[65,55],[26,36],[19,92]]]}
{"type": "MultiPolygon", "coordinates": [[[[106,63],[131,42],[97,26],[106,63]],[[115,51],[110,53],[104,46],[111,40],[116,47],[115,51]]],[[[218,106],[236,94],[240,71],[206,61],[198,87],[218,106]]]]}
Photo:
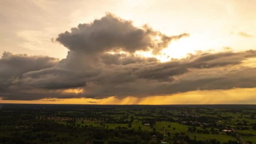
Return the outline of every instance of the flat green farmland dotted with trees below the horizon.
{"type": "Polygon", "coordinates": [[[255,144],[256,105],[0,104],[1,144],[255,144]]]}

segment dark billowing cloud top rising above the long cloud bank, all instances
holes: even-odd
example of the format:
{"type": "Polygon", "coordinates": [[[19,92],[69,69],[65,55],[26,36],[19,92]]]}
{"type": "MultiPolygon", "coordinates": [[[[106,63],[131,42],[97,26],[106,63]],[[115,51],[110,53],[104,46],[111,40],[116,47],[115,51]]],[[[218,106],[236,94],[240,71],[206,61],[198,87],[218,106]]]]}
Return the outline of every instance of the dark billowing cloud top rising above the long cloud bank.
{"type": "Polygon", "coordinates": [[[77,28],[71,28],[71,32],[59,34],[56,40],[70,50],[86,53],[102,53],[110,50],[135,52],[150,49],[157,53],[162,48],[166,48],[171,40],[185,36],[189,34],[169,37],[148,26],[137,28],[131,21],[108,13],[91,24],[79,24],[77,28]],[[158,37],[159,40],[154,40],[154,37],[158,37]]]}

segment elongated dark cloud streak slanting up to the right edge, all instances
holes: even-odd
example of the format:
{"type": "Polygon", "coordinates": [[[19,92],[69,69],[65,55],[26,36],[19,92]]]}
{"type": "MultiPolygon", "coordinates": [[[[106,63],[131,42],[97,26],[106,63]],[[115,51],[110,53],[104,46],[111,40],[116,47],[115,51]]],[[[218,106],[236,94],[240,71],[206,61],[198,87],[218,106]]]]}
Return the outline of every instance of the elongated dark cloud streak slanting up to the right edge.
{"type": "Polygon", "coordinates": [[[220,52],[220,53],[202,53],[191,55],[186,59],[179,61],[171,61],[165,63],[155,63],[144,65],[135,74],[140,78],[168,80],[170,76],[184,74],[189,71],[189,68],[214,68],[230,65],[241,64],[244,59],[255,57],[256,53],[253,50],[246,52],[220,52]]]}

